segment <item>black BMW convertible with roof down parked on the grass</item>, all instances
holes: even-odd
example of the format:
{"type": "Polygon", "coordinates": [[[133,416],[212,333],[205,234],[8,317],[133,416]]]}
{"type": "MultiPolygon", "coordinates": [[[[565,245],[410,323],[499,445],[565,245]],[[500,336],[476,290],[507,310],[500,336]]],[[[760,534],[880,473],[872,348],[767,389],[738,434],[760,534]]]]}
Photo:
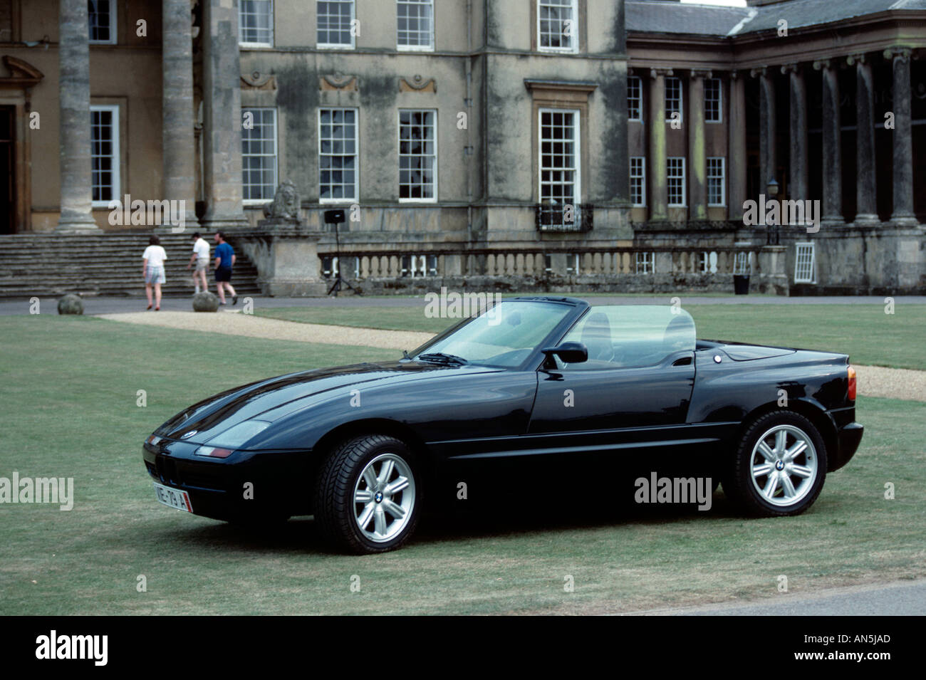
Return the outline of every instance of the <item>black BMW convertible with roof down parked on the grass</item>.
{"type": "Polygon", "coordinates": [[[144,442],[144,464],[171,507],[314,514],[355,552],[399,547],[426,493],[480,476],[555,503],[567,487],[630,497],[611,471],[675,465],[750,513],[790,515],[856,452],[855,399],[845,354],[696,340],[678,307],[516,298],[396,361],[196,403],[144,442]]]}

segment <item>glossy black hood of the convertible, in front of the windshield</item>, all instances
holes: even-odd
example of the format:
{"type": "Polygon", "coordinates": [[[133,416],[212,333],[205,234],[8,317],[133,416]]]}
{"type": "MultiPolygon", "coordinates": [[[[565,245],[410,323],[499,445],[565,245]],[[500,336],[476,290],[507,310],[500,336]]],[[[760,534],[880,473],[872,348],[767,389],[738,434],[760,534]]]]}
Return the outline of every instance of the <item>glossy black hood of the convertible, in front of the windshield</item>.
{"type": "Polygon", "coordinates": [[[370,383],[399,383],[432,377],[435,372],[449,376],[494,370],[497,368],[393,361],[300,371],[228,389],[194,403],[158,427],[155,434],[161,438],[203,444],[245,420],[272,422],[282,418],[305,408],[310,402],[317,401],[319,395],[323,396],[324,392],[332,389],[359,384],[369,386],[370,383]]]}

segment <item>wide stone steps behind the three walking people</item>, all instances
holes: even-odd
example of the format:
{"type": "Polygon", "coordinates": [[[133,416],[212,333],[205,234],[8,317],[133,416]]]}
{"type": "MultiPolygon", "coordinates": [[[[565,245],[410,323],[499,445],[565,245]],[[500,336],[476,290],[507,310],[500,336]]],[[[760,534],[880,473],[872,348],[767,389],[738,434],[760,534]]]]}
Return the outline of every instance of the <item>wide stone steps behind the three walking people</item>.
{"type": "MultiPolygon", "coordinates": [[[[142,253],[149,233],[0,235],[0,299],[59,296],[144,295],[142,253]]],[[[193,242],[189,233],[158,234],[168,253],[165,295],[192,295],[193,271],[187,270],[193,242]]],[[[214,248],[214,244],[211,244],[214,248]]],[[[232,246],[234,242],[232,241],[232,246]]],[[[240,248],[232,285],[239,295],[259,293],[257,267],[240,248]]],[[[211,291],[215,282],[207,276],[211,291]]]]}

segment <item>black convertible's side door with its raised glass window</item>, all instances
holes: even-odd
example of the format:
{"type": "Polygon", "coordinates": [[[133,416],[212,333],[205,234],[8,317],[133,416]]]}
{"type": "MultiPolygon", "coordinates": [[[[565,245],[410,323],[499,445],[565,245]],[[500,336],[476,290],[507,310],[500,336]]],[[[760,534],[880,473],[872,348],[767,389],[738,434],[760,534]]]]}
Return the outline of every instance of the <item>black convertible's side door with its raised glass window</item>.
{"type": "Polygon", "coordinates": [[[694,321],[670,307],[592,307],[562,341],[582,342],[588,361],[557,359],[538,370],[527,438],[545,453],[619,455],[675,449],[694,388],[694,321]]]}

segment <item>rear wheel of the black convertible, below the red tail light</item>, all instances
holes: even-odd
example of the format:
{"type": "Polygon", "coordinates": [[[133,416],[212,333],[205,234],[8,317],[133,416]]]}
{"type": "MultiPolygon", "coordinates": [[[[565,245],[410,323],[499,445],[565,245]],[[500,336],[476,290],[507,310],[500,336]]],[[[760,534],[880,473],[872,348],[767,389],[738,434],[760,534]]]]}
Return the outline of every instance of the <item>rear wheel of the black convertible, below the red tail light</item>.
{"type": "Polygon", "coordinates": [[[826,478],[826,444],[805,416],[773,411],[746,427],[723,476],[723,492],[747,512],[783,517],[807,510],[826,478]]]}

